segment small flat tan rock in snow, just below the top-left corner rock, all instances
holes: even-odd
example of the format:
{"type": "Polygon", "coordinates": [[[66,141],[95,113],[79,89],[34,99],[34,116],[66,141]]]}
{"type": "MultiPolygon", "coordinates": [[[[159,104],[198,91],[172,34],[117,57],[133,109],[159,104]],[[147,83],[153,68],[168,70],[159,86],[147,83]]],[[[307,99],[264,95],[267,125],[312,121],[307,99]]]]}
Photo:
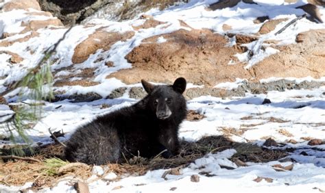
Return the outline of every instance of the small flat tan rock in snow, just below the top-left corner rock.
{"type": "Polygon", "coordinates": [[[23,29],[20,34],[25,34],[27,31],[36,31],[37,29],[45,28],[50,25],[63,26],[58,18],[51,18],[48,20],[34,20],[27,23],[21,23],[21,26],[25,27],[25,29],[23,29]]]}

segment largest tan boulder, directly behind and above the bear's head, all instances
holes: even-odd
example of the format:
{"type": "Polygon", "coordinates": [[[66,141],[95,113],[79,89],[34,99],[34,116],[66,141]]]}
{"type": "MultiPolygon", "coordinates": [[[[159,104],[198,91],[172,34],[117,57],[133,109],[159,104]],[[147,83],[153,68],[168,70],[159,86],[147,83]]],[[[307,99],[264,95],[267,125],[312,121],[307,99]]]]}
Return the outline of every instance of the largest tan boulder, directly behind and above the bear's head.
{"type": "Polygon", "coordinates": [[[228,65],[236,52],[226,47],[224,36],[194,29],[161,36],[167,42],[157,43],[159,36],[143,40],[125,57],[133,68],[119,70],[108,78],[116,77],[125,83],[137,83],[141,78],[171,83],[182,76],[191,83],[214,86],[217,82],[234,81],[236,77],[250,77],[243,64],[228,65]]]}

